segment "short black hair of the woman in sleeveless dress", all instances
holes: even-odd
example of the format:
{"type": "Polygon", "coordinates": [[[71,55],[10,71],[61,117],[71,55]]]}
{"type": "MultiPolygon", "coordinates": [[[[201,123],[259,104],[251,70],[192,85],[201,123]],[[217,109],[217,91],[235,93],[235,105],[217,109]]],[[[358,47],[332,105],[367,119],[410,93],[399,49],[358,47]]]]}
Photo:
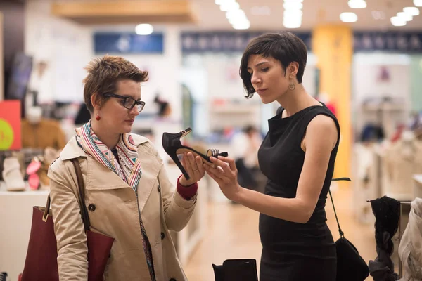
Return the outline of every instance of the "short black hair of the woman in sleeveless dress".
{"type": "MultiPolygon", "coordinates": [[[[296,78],[302,83],[303,72],[306,67],[307,48],[305,43],[298,36],[291,32],[266,33],[252,39],[241,59],[241,67],[239,74],[243,81],[243,87],[247,92],[246,98],[252,98],[255,89],[250,81],[250,73],[248,72],[248,59],[250,55],[262,55],[264,58],[275,58],[281,63],[281,67],[286,72],[286,68],[290,63],[299,64],[296,78]]],[[[286,73],[285,73],[286,74],[286,73]]]]}

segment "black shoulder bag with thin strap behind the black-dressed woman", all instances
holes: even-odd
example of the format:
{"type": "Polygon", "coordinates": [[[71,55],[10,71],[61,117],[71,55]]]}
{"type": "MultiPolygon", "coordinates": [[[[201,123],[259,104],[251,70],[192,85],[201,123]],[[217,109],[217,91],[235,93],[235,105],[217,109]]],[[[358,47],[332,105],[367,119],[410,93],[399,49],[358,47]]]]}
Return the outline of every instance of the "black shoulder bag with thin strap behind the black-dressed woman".
{"type": "MultiPolygon", "coordinates": [[[[350,178],[333,178],[333,181],[351,181],[350,178]]],[[[337,251],[337,281],[364,281],[369,276],[369,268],[362,256],[359,255],[356,247],[345,238],[345,234],[340,228],[337,213],[335,212],[333,196],[330,193],[331,203],[335,220],[337,221],[338,233],[340,238],[335,241],[335,249],[337,251]]]]}

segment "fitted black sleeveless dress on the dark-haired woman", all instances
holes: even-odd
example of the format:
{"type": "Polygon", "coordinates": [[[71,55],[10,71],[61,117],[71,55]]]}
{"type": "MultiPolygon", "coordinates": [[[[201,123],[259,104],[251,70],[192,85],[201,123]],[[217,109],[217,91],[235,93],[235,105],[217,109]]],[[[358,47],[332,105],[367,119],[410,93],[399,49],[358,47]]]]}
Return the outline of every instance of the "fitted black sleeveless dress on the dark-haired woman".
{"type": "MultiPolygon", "coordinates": [[[[269,119],[269,132],[258,151],[262,173],[268,181],[264,193],[294,198],[298,190],[305,152],[300,147],[309,122],[316,115],[334,119],[340,139],[340,126],[333,113],[323,105],[307,107],[281,118],[283,108],[269,119]]],[[[337,256],[326,225],[325,204],[333,178],[338,141],[331,152],[319,200],[309,221],[293,223],[260,214],[262,256],[260,281],[335,281],[337,256]]]]}

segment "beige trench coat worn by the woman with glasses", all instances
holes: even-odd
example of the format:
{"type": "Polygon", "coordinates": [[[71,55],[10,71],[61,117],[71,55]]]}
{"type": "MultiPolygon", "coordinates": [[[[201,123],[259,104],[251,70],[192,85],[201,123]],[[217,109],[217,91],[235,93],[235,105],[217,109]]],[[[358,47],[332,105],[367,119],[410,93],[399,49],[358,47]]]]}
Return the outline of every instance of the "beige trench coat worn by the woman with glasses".
{"type": "Polygon", "coordinates": [[[138,145],[142,176],[138,202],[134,190],[113,171],[87,157],[72,138],[49,168],[51,209],[58,248],[60,281],[87,280],[87,237],[77,203],[78,158],[85,183],[91,230],[115,238],[104,280],[151,280],[142,246],[139,212],[153,253],[155,277],[187,280],[169,230],[182,230],[196,205],[184,200],[167,177],[162,159],[147,138],[132,134],[138,145]],[[139,209],[138,209],[139,206],[139,209]]]}

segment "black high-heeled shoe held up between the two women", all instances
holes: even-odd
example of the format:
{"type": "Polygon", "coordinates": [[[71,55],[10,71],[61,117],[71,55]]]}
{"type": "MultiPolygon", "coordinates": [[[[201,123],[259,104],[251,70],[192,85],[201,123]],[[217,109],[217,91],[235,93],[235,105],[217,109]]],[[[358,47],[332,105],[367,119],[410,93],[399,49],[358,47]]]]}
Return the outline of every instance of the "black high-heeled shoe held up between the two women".
{"type": "MultiPolygon", "coordinates": [[[[180,163],[179,157],[177,157],[177,154],[183,153],[183,152],[192,152],[193,156],[200,156],[201,159],[203,159],[203,162],[205,160],[205,164],[212,164],[210,157],[218,157],[223,156],[227,157],[229,154],[227,152],[219,152],[217,149],[210,149],[207,150],[207,155],[202,154],[201,152],[198,152],[197,150],[194,150],[193,148],[189,148],[188,146],[182,145],[180,142],[180,138],[183,138],[184,136],[188,135],[188,133],[191,133],[192,129],[188,128],[185,129],[179,133],[163,133],[162,134],[162,148],[164,148],[165,152],[173,159],[174,163],[177,164],[179,167],[181,173],[184,175],[184,177],[188,180],[190,177],[186,170],[184,169],[184,166],[180,163]]],[[[214,166],[214,165],[211,165],[214,166]]]]}

